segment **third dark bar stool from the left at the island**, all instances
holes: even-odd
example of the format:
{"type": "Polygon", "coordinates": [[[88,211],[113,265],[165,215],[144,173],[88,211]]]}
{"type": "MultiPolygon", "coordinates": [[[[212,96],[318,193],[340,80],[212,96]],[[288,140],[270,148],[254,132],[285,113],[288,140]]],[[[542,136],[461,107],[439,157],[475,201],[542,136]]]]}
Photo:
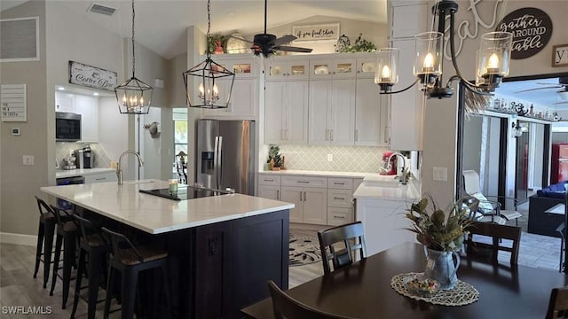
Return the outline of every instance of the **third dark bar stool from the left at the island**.
{"type": "MultiPolygon", "coordinates": [[[[100,273],[106,275],[106,253],[110,251],[110,246],[106,244],[106,240],[102,237],[100,229],[93,222],[74,214],[75,221],[79,224],[79,234],[81,237],[81,251],[79,253],[79,265],[77,268],[77,279],[75,281],[75,300],[73,302],[73,311],[71,318],[75,318],[80,291],[82,289],[81,282],[83,280],[83,269],[86,264],[86,254],[89,254],[89,268],[87,268],[87,276],[89,277],[88,290],[88,318],[94,319],[97,311],[97,297],[99,295],[99,279],[100,273]]],[[[101,300],[102,301],[102,300],[101,300]]]]}

